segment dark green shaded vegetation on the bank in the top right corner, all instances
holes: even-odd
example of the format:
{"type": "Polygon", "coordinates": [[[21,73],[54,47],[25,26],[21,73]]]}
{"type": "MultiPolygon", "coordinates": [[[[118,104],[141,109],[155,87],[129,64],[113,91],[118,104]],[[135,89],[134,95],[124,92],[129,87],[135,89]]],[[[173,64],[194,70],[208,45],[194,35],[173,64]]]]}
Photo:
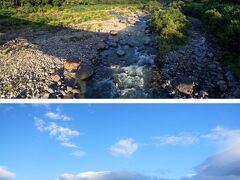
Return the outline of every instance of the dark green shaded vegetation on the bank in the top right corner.
{"type": "Polygon", "coordinates": [[[223,61],[240,78],[240,5],[238,0],[193,0],[182,6],[190,16],[200,18],[222,48],[223,61]]]}

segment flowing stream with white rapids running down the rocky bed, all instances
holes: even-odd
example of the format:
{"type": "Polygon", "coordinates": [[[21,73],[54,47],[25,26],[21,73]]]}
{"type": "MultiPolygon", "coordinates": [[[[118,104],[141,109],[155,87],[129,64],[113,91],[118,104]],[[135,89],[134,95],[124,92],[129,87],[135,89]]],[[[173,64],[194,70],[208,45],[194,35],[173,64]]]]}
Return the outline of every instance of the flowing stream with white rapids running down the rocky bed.
{"type": "MultiPolygon", "coordinates": [[[[114,11],[112,13],[115,13],[114,11]]],[[[125,17],[117,14],[119,19],[125,17]]],[[[110,47],[99,53],[95,74],[87,82],[87,98],[159,98],[153,93],[153,74],[157,73],[157,34],[146,33],[149,16],[118,35],[105,40],[110,47]],[[115,43],[117,42],[117,43],[115,43]],[[114,44],[114,47],[111,47],[114,44]],[[119,55],[119,54],[120,55],[119,55]],[[154,73],[153,73],[154,72],[154,73]]]]}

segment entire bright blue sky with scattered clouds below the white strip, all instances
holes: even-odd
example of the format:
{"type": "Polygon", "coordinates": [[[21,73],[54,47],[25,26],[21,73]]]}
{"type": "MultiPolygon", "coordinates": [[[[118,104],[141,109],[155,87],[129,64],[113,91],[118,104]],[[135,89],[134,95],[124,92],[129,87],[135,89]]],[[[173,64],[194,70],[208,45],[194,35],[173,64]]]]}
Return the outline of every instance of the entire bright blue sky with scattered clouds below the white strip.
{"type": "Polygon", "coordinates": [[[239,108],[0,105],[0,180],[239,179],[239,108]]]}

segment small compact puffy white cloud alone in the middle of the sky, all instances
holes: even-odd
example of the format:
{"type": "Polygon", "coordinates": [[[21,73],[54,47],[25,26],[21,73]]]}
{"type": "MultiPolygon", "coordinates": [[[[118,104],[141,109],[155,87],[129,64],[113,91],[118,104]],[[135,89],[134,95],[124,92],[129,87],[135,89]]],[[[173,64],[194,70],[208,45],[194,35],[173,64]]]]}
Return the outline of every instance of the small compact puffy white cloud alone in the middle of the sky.
{"type": "Polygon", "coordinates": [[[109,151],[115,156],[131,156],[137,149],[139,145],[134,142],[133,139],[121,139],[114,145],[109,147],[109,151]]]}

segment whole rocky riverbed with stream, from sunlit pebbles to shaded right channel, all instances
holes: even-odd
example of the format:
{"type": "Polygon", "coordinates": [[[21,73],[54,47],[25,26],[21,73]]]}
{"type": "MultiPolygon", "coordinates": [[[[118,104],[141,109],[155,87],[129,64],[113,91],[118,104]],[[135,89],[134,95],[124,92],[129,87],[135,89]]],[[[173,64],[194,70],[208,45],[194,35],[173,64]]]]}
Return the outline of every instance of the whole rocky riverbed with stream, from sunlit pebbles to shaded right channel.
{"type": "Polygon", "coordinates": [[[236,98],[239,83],[190,18],[189,41],[164,57],[142,12],[0,37],[0,98],[236,98]],[[89,25],[88,24],[88,25],[89,25]],[[96,25],[97,24],[97,25],[96,25]]]}

